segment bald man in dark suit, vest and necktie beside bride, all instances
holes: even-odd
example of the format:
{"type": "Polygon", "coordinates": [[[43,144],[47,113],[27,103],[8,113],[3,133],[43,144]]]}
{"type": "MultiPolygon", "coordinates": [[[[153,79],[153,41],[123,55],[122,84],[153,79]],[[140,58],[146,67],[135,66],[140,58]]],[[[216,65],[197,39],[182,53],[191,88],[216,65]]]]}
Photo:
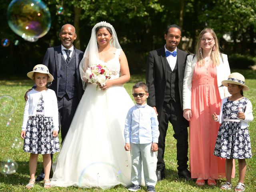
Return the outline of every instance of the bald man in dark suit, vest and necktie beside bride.
{"type": "MultiPolygon", "coordinates": [[[[79,64],[84,53],[73,46],[76,39],[74,26],[63,25],[59,36],[62,44],[48,48],[42,64],[48,67],[54,77],[49,88],[55,91],[58,99],[59,125],[63,142],[84,93],[79,72],[79,64]]],[[[44,170],[36,181],[43,179],[44,170]]]]}

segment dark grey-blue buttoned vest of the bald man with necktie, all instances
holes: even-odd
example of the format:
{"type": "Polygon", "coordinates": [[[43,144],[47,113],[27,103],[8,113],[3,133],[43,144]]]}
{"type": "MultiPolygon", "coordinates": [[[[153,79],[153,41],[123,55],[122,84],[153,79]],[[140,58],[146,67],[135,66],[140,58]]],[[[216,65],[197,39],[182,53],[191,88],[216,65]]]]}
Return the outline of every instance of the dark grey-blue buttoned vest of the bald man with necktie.
{"type": "Polygon", "coordinates": [[[62,98],[65,94],[68,98],[73,98],[78,95],[76,88],[76,57],[73,50],[70,61],[67,63],[64,56],[61,56],[60,62],[60,84],[58,88],[58,97],[62,98]]]}

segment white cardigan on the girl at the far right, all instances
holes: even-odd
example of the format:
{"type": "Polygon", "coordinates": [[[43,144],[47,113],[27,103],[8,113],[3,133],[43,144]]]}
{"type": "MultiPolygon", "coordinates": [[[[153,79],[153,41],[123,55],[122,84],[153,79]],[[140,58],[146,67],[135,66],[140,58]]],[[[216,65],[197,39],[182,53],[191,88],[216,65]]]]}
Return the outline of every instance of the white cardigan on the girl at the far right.
{"type": "MultiPolygon", "coordinates": [[[[220,109],[220,115],[218,115],[218,119],[216,121],[222,123],[224,118],[222,116],[222,110],[223,110],[223,105],[224,103],[226,103],[227,97],[225,97],[224,99],[222,99],[222,103],[221,103],[221,109],[220,109]]],[[[252,103],[250,102],[250,100],[248,101],[248,103],[246,104],[245,107],[245,111],[244,111],[244,116],[245,119],[241,120],[241,129],[245,129],[246,127],[248,127],[248,122],[251,122],[253,120],[253,115],[252,115],[252,103]]]]}

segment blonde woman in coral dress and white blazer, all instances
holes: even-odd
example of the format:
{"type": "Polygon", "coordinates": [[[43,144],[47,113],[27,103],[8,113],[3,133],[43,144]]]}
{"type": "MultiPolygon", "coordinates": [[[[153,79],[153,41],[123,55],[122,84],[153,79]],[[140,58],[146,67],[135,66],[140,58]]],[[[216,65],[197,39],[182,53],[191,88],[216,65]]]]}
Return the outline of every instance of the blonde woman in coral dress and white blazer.
{"type": "Polygon", "coordinates": [[[219,111],[222,98],[228,96],[221,81],[228,78],[228,58],[220,54],[218,39],[212,29],[199,35],[196,54],[187,58],[183,81],[183,115],[190,122],[190,172],[201,186],[216,185],[215,179],[225,177],[225,159],[214,156],[220,124],[211,114],[219,111]]]}

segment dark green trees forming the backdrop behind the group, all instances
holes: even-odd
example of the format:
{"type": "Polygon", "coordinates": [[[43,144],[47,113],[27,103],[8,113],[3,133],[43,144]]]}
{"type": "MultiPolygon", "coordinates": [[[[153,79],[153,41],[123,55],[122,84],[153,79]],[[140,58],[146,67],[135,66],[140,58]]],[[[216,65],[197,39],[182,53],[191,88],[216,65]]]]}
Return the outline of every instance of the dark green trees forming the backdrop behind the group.
{"type": "MultiPolygon", "coordinates": [[[[179,24],[182,36],[190,39],[188,46],[179,48],[194,52],[199,32],[213,28],[224,53],[255,55],[256,0],[43,0],[48,6],[52,25],[49,32],[37,42],[27,42],[14,34],[6,21],[6,10],[11,0],[0,0],[0,37],[9,38],[10,46],[0,47],[1,79],[24,76],[35,64],[42,63],[46,49],[60,44],[58,33],[63,24],[76,26],[75,46],[85,50],[92,26],[105,20],[118,35],[132,72],[145,69],[149,51],[165,44],[164,32],[169,24],[179,24]],[[182,6],[184,5],[184,6],[182,6]],[[63,14],[57,7],[63,6],[63,14]],[[222,36],[229,34],[232,43],[222,36]],[[18,39],[20,44],[14,46],[18,39]]],[[[185,44],[184,44],[185,45],[185,44]]]]}

